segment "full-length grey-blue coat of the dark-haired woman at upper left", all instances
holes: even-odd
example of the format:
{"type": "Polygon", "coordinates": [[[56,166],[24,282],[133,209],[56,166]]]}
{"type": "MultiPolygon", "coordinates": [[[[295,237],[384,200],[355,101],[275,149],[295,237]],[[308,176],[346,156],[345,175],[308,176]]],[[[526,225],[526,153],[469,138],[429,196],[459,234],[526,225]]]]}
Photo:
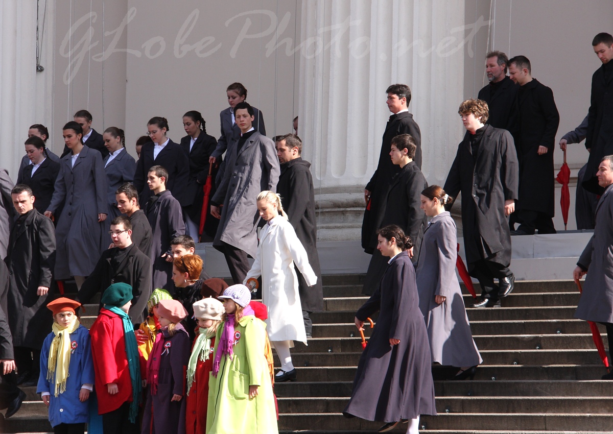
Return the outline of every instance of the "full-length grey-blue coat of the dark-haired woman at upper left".
{"type": "Polygon", "coordinates": [[[104,222],[98,222],[98,214],[109,212],[107,176],[102,155],[84,146],[74,167],[71,158],[72,153],[69,153],[61,159],[55,191],[48,208],[55,214],[58,207],[64,204],[55,231],[57,280],[89,276],[100,254],[110,243],[109,235],[102,235],[104,222]]]}

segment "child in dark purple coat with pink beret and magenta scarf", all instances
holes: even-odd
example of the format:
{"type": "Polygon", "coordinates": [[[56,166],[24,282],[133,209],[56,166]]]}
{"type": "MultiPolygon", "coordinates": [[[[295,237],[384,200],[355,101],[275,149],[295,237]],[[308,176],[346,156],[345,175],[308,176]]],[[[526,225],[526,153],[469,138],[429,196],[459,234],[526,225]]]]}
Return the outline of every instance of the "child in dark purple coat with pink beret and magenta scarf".
{"type": "Polygon", "coordinates": [[[147,360],[147,402],[142,434],[185,434],[185,371],[189,336],[181,321],[187,311],[177,300],[160,300],[162,326],[147,360]]]}

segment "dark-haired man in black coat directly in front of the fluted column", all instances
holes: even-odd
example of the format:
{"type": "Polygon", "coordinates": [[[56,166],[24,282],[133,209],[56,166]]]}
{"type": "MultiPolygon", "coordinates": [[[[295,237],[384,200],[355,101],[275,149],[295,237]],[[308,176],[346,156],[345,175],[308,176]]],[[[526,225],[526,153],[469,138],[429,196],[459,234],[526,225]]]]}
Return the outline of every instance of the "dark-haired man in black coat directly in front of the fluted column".
{"type": "Polygon", "coordinates": [[[411,102],[411,89],[407,85],[391,85],[386,90],[387,107],[393,114],[389,116],[385,132],[383,133],[383,143],[379,154],[379,164],[373,177],[370,178],[364,189],[364,200],[366,210],[364,211],[364,221],[362,223],[362,248],[368,254],[373,254],[377,246],[376,230],[381,227],[381,217],[385,212],[385,202],[387,189],[396,173],[400,172],[400,166],[395,166],[389,158],[390,143],[392,139],[400,134],[410,134],[415,141],[417,150],[415,151],[414,162],[421,169],[421,132],[419,126],[413,120],[413,115],[409,113],[407,106],[411,102]]]}

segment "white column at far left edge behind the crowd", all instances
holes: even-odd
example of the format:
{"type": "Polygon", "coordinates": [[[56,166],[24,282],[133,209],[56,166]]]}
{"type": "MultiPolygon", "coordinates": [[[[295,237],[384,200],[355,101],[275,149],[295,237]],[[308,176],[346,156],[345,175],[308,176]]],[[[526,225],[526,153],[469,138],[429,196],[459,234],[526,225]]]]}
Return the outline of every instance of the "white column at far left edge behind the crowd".
{"type": "MultiPolygon", "coordinates": [[[[50,127],[53,82],[53,32],[55,1],[46,0],[42,48],[44,72],[36,72],[36,1],[0,2],[0,168],[9,170],[13,182],[25,154],[23,142],[34,123],[50,127]]],[[[44,9],[45,1],[40,2],[44,9]]],[[[39,36],[43,10],[39,14],[39,36]]]]}

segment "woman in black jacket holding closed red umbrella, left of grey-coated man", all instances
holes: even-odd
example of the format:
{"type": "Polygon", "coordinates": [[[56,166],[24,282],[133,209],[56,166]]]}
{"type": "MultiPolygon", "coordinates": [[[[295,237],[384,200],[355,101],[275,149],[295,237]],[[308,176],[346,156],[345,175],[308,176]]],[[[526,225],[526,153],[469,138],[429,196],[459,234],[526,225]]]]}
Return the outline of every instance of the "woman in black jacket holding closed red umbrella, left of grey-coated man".
{"type": "MultiPolygon", "coordinates": [[[[202,200],[204,199],[203,186],[207,183],[208,158],[211,156],[217,140],[207,134],[205,121],[196,110],[190,110],[183,115],[183,129],[186,136],[181,139],[181,147],[185,150],[189,159],[189,180],[185,186],[185,203],[183,203],[183,220],[185,220],[186,235],[198,240],[200,236],[200,213],[202,212],[202,200]]],[[[213,167],[211,175],[215,179],[217,169],[213,167]]],[[[215,186],[211,188],[210,197],[215,193],[215,186]]],[[[205,233],[212,241],[217,232],[219,219],[210,217],[210,205],[207,210],[205,233]]],[[[203,240],[204,241],[204,240],[203,240]]]]}

